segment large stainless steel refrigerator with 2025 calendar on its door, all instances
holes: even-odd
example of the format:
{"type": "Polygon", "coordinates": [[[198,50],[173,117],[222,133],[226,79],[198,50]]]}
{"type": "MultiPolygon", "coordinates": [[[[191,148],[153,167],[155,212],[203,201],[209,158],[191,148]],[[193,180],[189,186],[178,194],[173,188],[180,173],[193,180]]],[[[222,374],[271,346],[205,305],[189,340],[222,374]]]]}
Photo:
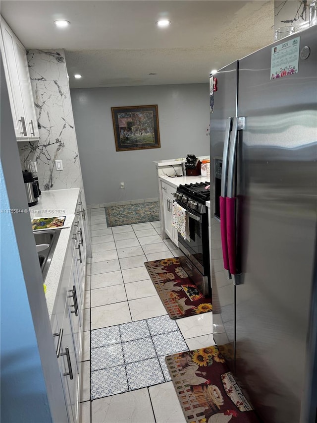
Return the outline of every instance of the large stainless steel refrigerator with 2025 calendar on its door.
{"type": "Polygon", "coordinates": [[[315,423],[317,26],[211,77],[213,336],[263,421],[315,423]]]}

